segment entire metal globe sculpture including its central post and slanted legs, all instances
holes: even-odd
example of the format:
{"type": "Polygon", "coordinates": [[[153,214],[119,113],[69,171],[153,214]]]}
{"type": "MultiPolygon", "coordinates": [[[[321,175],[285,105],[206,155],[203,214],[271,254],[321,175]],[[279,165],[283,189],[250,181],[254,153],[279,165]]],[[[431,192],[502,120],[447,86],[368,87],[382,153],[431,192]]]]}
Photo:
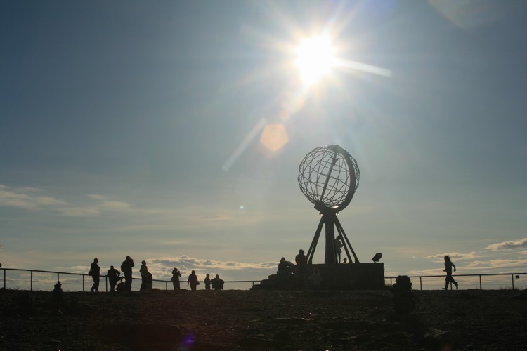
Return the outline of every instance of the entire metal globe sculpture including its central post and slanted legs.
{"type": "Polygon", "coordinates": [[[342,228],[337,214],[349,205],[358,188],[357,161],[339,145],[316,147],[306,154],[299,166],[298,183],[322,217],[311,242],[306,258],[312,264],[313,255],[325,227],[325,264],[339,263],[344,249],[350,263],[359,263],[355,251],[342,228]],[[338,237],[335,237],[334,228],[338,237]],[[353,259],[351,259],[351,255],[353,259]]]}

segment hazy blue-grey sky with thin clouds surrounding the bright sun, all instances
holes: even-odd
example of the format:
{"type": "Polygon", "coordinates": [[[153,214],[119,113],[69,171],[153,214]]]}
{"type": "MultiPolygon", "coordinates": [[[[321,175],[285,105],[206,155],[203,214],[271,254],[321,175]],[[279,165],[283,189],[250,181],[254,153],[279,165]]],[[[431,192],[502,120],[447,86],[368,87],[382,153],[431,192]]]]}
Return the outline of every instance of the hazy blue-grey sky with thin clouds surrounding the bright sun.
{"type": "MultiPolygon", "coordinates": [[[[386,276],[527,272],[527,3],[1,1],[0,262],[155,279],[273,274],[319,214],[302,159],[340,145],[339,220],[386,276]],[[340,64],[306,83],[299,45],[340,64]]],[[[322,239],[321,239],[322,240],[322,239]]],[[[314,263],[323,263],[319,244],[314,263]]]]}

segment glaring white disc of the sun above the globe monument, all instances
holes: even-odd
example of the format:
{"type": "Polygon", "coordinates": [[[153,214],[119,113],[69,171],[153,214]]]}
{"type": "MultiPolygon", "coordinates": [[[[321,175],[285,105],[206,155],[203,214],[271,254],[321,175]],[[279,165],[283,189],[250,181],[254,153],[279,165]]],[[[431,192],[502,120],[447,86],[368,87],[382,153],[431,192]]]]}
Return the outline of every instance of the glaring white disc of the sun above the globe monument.
{"type": "Polygon", "coordinates": [[[295,64],[304,84],[315,84],[332,71],[337,58],[330,39],[326,36],[311,37],[301,41],[296,50],[295,64]]]}

